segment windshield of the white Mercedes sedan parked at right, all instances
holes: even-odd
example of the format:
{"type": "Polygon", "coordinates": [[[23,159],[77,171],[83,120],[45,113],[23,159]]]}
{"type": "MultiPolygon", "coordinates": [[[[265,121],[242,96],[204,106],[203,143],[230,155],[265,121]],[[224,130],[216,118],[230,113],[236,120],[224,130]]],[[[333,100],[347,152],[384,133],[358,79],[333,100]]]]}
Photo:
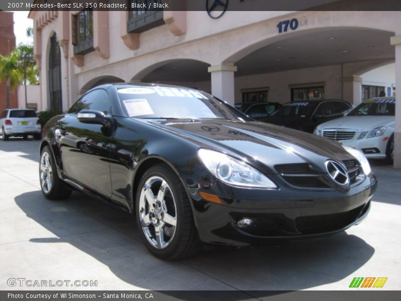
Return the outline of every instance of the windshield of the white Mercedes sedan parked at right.
{"type": "Polygon", "coordinates": [[[351,112],[347,116],[394,116],[395,99],[368,99],[351,112]]]}

